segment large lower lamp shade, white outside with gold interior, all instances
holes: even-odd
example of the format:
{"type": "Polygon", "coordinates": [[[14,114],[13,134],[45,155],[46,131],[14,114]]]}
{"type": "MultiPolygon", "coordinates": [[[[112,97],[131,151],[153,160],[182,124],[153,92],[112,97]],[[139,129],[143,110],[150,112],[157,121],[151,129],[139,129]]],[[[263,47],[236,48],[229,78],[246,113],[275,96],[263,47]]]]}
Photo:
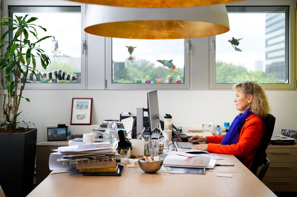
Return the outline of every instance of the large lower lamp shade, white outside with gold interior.
{"type": "Polygon", "coordinates": [[[85,32],[127,39],[186,39],[228,32],[225,5],[124,8],[89,5],[85,32]]]}

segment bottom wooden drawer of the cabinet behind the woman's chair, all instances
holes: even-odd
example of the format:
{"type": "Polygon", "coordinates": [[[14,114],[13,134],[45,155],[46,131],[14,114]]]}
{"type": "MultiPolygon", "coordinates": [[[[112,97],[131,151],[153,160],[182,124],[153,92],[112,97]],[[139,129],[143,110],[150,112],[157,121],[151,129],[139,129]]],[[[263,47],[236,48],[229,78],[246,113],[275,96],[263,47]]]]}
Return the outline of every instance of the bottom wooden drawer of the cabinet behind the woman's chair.
{"type": "Polygon", "coordinates": [[[297,177],[264,177],[262,182],[272,191],[297,191],[297,177]]]}

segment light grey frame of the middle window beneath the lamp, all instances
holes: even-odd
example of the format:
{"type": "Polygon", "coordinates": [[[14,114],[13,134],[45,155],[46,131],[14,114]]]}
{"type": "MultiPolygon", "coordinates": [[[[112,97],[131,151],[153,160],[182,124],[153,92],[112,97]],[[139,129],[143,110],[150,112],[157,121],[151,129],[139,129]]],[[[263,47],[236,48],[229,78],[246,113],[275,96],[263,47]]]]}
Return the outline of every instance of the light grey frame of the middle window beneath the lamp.
{"type": "Polygon", "coordinates": [[[162,84],[147,84],[147,83],[133,83],[121,84],[112,83],[112,38],[105,37],[105,89],[110,90],[156,90],[156,89],[190,89],[190,39],[185,39],[185,71],[184,83],[162,83],[162,84]]]}

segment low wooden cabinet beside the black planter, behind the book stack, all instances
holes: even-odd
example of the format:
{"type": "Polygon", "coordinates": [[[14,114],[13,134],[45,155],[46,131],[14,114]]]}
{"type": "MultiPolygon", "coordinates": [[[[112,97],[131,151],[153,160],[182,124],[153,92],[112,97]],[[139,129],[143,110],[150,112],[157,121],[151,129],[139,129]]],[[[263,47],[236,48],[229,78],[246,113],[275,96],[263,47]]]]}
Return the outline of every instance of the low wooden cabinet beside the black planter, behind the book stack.
{"type": "Polygon", "coordinates": [[[38,185],[43,179],[45,179],[51,172],[48,167],[48,159],[50,153],[54,152],[52,150],[57,149],[59,146],[68,145],[68,141],[50,142],[50,144],[48,144],[47,142],[45,144],[43,142],[40,142],[36,145],[36,185],[38,185]]]}

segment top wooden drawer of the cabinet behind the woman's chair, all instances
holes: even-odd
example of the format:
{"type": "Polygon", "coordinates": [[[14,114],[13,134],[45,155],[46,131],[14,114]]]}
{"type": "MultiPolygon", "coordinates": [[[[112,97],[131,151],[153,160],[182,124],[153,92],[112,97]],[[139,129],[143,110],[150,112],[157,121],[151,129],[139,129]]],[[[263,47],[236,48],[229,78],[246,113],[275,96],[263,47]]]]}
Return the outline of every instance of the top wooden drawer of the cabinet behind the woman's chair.
{"type": "Polygon", "coordinates": [[[267,148],[270,162],[297,162],[296,148],[267,148]]]}

